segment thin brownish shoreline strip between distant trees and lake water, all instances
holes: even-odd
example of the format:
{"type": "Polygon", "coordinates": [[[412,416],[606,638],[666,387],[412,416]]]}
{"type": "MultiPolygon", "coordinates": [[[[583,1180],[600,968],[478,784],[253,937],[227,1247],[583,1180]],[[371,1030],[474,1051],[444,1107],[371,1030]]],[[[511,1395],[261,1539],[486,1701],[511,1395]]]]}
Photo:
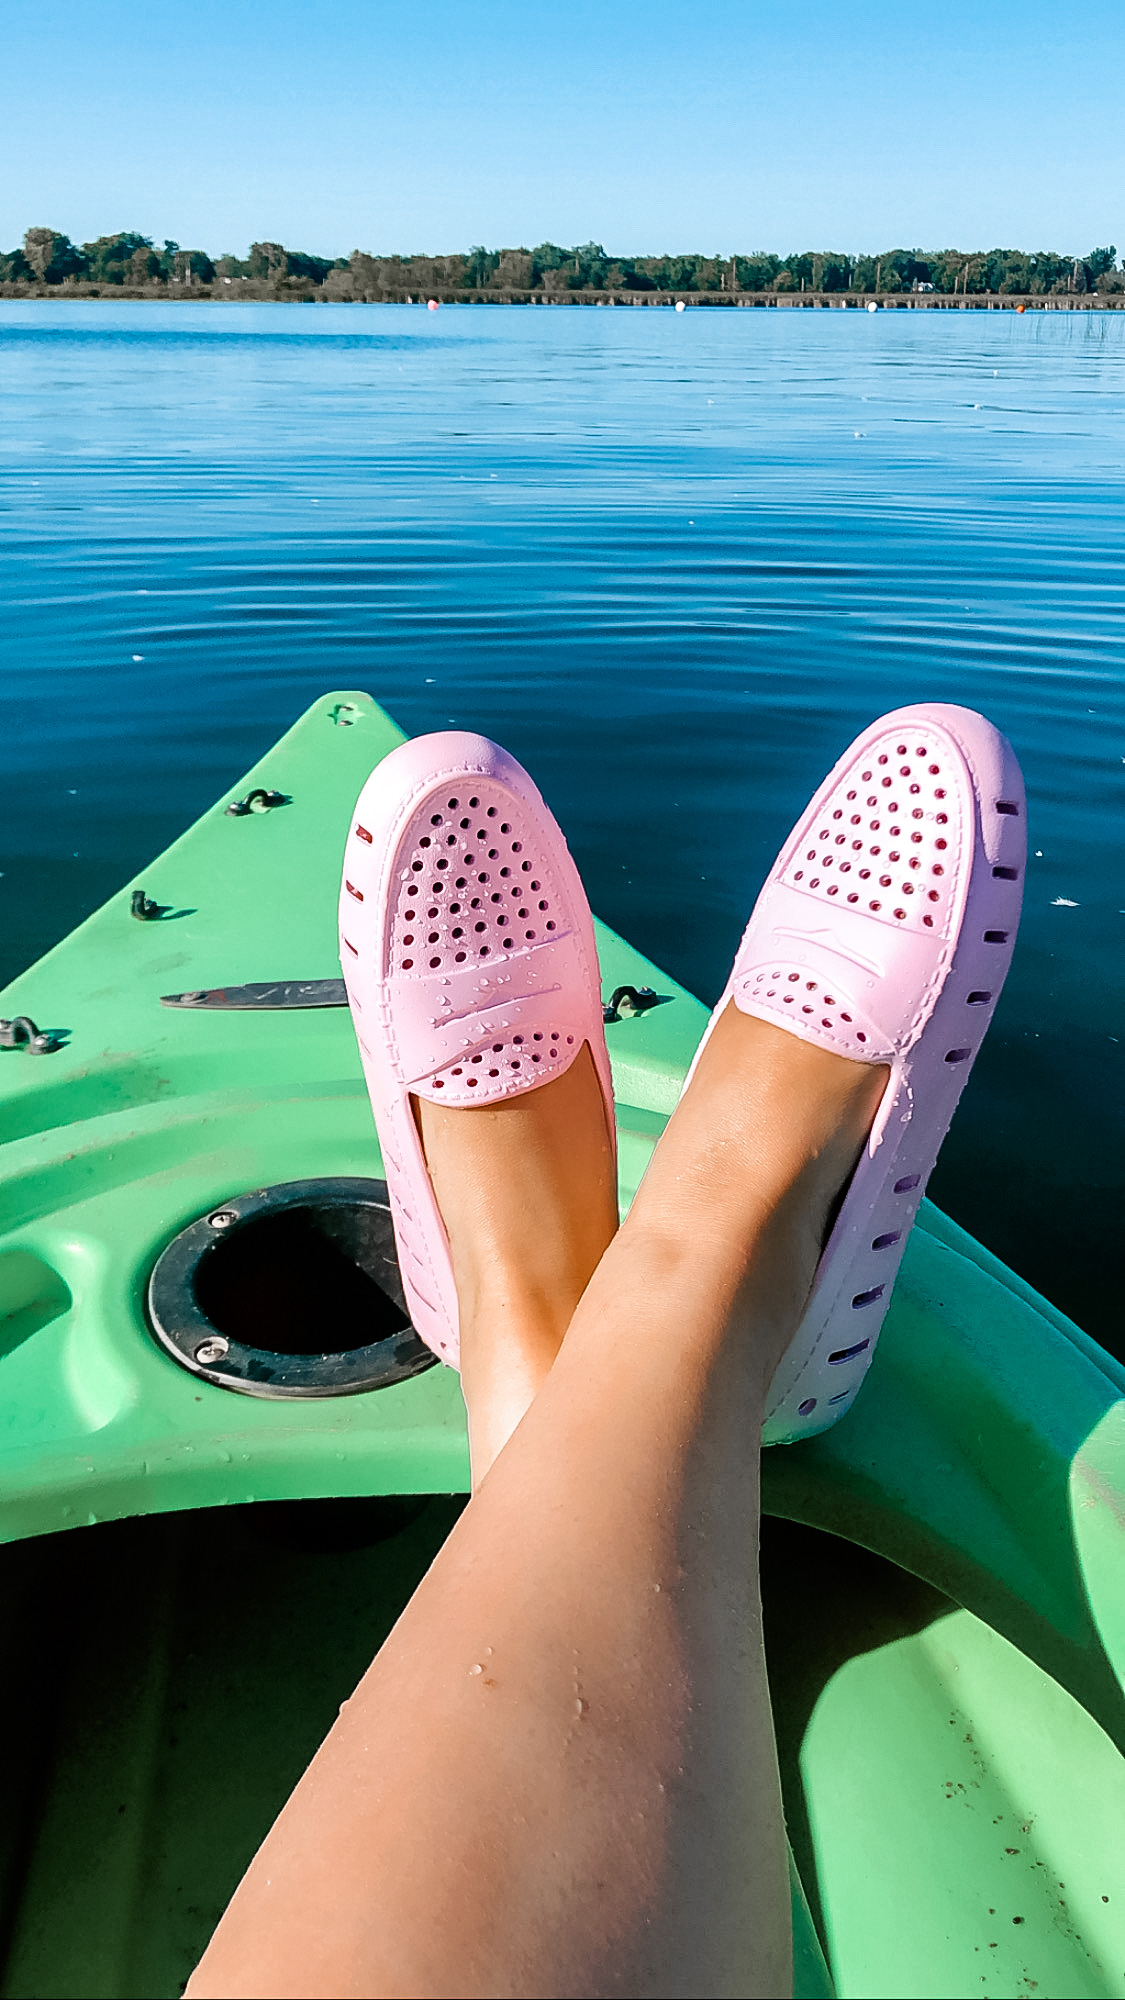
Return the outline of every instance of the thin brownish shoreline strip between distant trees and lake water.
{"type": "Polygon", "coordinates": [[[194,284],[0,284],[0,300],[104,300],[152,306],[693,306],[705,310],[811,312],[1121,312],[1125,292],[540,292],[482,288],[478,292],[344,290],[342,286],[194,284]]]}

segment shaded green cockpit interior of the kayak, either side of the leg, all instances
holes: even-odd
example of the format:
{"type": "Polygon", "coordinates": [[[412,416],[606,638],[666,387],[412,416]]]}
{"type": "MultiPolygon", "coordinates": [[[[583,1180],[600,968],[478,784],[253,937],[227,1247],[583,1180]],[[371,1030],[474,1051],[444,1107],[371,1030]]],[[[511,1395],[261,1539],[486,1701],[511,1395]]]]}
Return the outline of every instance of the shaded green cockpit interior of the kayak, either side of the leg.
{"type": "MultiPolygon", "coordinates": [[[[6,1996],[182,1990],[460,1506],[208,1508],[0,1550],[6,1996]]],[[[1125,1780],[1097,1724],[969,1612],[819,1530],[763,1524],[763,1608],[837,1990],[1119,1992],[1125,1780]]],[[[833,1988],[795,1918],[813,2000],[833,1988]]]]}

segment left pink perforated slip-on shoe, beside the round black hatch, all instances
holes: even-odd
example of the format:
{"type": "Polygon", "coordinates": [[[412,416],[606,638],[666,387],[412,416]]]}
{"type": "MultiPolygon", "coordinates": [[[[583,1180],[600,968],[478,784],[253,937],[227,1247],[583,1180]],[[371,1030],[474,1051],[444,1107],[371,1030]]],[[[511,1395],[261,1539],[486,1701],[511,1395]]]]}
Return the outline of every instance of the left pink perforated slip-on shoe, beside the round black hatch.
{"type": "Polygon", "coordinates": [[[340,964],[410,1320],[456,1368],[448,1238],[410,1096],[496,1104],[589,1044],[615,1144],[591,908],[534,784],[486,736],[416,736],[372,770],[344,850],[340,964]]]}

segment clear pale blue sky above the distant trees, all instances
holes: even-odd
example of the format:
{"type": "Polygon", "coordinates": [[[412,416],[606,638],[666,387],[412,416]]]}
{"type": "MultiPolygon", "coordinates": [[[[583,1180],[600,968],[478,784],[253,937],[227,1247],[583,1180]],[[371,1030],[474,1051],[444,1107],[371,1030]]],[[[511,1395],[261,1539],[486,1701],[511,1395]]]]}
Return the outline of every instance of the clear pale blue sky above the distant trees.
{"type": "Polygon", "coordinates": [[[0,248],[1125,244],[1125,0],[0,0],[0,248]]]}

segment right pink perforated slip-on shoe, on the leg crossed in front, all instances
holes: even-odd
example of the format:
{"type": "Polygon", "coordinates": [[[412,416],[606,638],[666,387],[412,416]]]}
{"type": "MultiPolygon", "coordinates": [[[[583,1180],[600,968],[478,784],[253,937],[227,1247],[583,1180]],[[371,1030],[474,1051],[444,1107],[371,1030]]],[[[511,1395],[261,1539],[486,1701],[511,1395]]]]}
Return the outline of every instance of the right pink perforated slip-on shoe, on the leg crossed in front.
{"type": "Polygon", "coordinates": [[[1011,746],[973,710],[923,702],[883,716],[845,752],[757,900],[711,1028],[733,998],[805,1042],[891,1064],[767,1398],[765,1444],[827,1430],[867,1374],[1005,982],[1025,852],[1011,746]]]}

